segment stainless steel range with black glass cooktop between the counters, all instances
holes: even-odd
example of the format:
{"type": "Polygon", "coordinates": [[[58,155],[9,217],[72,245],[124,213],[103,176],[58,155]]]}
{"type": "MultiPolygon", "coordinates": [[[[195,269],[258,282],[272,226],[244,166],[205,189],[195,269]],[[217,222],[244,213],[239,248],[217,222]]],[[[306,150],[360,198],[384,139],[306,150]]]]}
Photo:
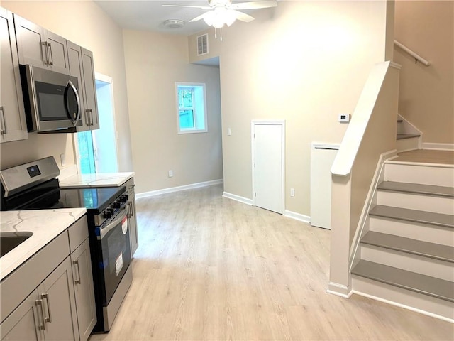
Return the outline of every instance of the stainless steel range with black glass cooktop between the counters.
{"type": "Polygon", "coordinates": [[[125,186],[63,190],[59,174],[53,157],[0,171],[1,210],[87,208],[98,319],[94,331],[108,332],[132,283],[128,192],[125,186]]]}

